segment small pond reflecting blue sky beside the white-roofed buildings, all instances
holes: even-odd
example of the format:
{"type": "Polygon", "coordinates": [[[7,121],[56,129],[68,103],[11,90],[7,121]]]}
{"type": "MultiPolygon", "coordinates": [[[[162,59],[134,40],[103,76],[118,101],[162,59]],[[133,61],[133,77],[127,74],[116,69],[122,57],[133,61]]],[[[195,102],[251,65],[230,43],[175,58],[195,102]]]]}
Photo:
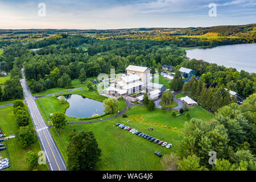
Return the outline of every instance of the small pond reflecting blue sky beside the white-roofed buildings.
{"type": "MultiPolygon", "coordinates": [[[[60,96],[61,97],[61,96],[60,96]]],[[[57,97],[57,98],[60,98],[57,97]]],[[[69,107],[65,111],[68,117],[87,118],[93,114],[105,114],[103,103],[78,94],[64,95],[65,100],[69,102],[69,107]]]]}

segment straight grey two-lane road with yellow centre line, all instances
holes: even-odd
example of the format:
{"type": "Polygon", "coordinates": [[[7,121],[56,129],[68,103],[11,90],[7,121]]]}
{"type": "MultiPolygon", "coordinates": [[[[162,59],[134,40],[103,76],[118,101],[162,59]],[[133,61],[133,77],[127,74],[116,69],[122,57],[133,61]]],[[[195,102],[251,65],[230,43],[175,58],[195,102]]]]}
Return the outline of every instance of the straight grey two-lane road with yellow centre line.
{"type": "Polygon", "coordinates": [[[28,111],[30,112],[36,134],[38,135],[40,144],[42,146],[42,150],[46,155],[46,161],[48,163],[49,169],[51,171],[66,170],[66,164],[64,162],[64,159],[61,156],[59,148],[57,148],[51,133],[49,132],[48,126],[46,125],[46,122],[44,121],[38,109],[38,106],[36,105],[35,97],[32,96],[24,76],[22,80],[20,80],[20,82],[23,88],[25,102],[28,106],[28,111]]]}

